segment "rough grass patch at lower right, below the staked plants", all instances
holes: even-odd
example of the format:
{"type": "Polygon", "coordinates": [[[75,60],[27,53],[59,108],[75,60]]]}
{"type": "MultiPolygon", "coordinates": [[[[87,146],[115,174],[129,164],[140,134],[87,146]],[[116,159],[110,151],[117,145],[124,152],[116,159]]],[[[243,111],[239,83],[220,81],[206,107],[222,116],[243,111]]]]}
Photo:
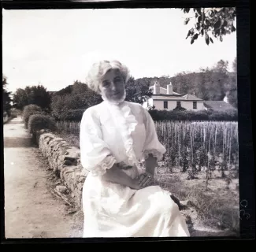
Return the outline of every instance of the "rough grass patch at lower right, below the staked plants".
{"type": "MultiPolygon", "coordinates": [[[[156,179],[163,189],[170,191],[180,201],[189,200],[193,203],[198,213],[199,225],[208,228],[228,228],[239,235],[238,191],[227,189],[225,183],[220,187],[213,185],[213,189],[206,190],[202,179],[195,183],[195,180],[186,180],[184,175],[181,172],[165,170],[158,171],[156,179]]],[[[210,183],[215,181],[213,179],[210,183]]]]}

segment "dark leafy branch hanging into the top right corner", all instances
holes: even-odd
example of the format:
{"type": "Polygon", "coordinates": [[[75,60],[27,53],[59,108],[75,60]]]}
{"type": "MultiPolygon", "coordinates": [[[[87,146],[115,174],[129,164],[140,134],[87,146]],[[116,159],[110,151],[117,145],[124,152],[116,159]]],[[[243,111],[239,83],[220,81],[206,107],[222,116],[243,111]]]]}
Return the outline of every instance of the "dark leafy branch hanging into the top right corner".
{"type": "MultiPolygon", "coordinates": [[[[195,13],[193,17],[187,17],[184,24],[187,25],[192,18],[195,18],[194,25],[187,32],[187,38],[190,37],[191,44],[195,42],[200,35],[206,41],[206,44],[213,43],[213,37],[223,41],[223,36],[236,31],[234,20],[236,18],[236,7],[224,8],[182,8],[184,13],[192,10],[195,13]],[[211,35],[210,35],[211,34],[211,35]]],[[[187,39],[186,38],[186,39],[187,39]]]]}

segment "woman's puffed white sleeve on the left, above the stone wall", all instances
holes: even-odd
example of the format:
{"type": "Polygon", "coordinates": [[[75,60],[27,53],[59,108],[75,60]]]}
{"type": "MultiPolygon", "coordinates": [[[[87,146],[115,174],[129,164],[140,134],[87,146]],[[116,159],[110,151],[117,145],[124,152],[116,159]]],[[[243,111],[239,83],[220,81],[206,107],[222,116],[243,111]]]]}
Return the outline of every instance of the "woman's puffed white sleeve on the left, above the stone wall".
{"type": "Polygon", "coordinates": [[[99,120],[91,108],[85,110],[80,122],[80,161],[93,176],[102,176],[116,162],[102,139],[99,120]]]}

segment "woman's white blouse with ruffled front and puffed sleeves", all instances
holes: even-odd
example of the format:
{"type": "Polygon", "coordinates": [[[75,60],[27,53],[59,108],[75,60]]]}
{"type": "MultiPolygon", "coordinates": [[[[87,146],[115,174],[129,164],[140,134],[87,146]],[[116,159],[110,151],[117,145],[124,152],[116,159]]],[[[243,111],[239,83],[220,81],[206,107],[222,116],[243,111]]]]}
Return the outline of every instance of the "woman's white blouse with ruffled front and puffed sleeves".
{"type": "Polygon", "coordinates": [[[137,166],[153,154],[161,160],[166,149],[154,120],[139,103],[103,101],[83,113],[80,123],[80,160],[92,176],[102,176],[114,163],[137,166]]]}

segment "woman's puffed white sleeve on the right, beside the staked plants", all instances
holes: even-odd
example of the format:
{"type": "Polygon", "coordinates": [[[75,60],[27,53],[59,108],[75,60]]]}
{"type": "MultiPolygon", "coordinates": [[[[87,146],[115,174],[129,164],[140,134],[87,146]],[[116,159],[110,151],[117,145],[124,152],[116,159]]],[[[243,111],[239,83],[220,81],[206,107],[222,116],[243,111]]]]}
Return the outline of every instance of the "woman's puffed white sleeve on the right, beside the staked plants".
{"type": "Polygon", "coordinates": [[[157,161],[160,161],[165,154],[165,146],[158,140],[154,120],[148,113],[147,109],[143,108],[144,124],[146,128],[146,141],[143,147],[143,159],[146,160],[149,154],[152,154],[157,161]]]}

